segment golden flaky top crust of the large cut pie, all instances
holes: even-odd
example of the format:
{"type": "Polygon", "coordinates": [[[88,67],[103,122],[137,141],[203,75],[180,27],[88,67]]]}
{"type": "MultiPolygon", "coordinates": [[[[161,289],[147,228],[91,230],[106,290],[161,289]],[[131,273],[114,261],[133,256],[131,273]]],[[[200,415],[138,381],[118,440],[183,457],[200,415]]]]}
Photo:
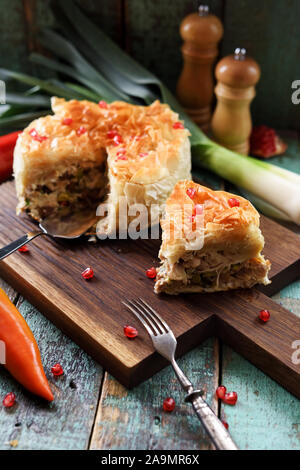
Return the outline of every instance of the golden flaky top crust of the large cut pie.
{"type": "Polygon", "coordinates": [[[151,106],[113,102],[101,108],[90,101],[52,98],[52,109],[53,116],[33,121],[18,139],[17,153],[30,166],[70,157],[99,161],[106,149],[118,179],[145,184],[172,171],[178,149],[189,135],[187,129],[173,128],[178,115],[159,101],[151,106]],[[64,125],[64,119],[72,122],[64,125]],[[41,141],[32,138],[32,130],[41,141]],[[120,136],[119,142],[113,133],[120,136]]]}

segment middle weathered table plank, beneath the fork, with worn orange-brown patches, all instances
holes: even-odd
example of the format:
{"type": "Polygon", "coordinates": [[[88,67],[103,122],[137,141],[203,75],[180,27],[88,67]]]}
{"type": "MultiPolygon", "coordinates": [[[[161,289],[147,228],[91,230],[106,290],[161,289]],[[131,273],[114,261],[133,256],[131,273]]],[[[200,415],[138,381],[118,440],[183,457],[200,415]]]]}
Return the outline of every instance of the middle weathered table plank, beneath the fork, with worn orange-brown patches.
{"type": "MultiPolygon", "coordinates": [[[[206,399],[217,412],[214,397],[219,375],[217,340],[209,339],[178,362],[195,386],[205,391],[206,399]]],[[[183,398],[170,367],[129,391],[105,375],[91,448],[210,449],[209,440],[183,398]],[[168,396],[177,403],[173,413],[162,409],[168,396]]]]}

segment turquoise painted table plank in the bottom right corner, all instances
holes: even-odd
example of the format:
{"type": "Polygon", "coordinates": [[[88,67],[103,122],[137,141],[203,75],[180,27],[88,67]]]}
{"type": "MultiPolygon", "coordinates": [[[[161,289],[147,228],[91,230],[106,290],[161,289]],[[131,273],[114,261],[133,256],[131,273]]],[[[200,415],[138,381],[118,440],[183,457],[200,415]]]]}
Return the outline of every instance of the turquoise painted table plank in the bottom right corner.
{"type": "MultiPolygon", "coordinates": [[[[300,298],[300,282],[285,289],[275,299],[299,316],[300,300],[291,295],[300,298]]],[[[239,395],[235,407],[222,405],[221,416],[229,423],[232,436],[241,448],[300,449],[297,398],[227,346],[223,347],[222,382],[228,390],[236,390],[239,395]]]]}

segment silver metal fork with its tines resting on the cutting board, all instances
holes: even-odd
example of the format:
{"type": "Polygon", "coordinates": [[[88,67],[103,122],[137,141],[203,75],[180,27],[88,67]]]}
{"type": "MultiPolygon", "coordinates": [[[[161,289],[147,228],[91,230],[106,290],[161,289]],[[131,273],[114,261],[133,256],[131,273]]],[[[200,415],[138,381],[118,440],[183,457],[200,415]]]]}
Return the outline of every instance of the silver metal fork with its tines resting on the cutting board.
{"type": "Polygon", "coordinates": [[[153,346],[159,354],[171,362],[175,374],[187,393],[186,402],[192,403],[194,411],[217,450],[238,450],[223,423],[215,415],[200,390],[194,390],[192,383],[175,361],[176,338],[161,316],[142,299],[122,302],[146,328],[153,346]]]}

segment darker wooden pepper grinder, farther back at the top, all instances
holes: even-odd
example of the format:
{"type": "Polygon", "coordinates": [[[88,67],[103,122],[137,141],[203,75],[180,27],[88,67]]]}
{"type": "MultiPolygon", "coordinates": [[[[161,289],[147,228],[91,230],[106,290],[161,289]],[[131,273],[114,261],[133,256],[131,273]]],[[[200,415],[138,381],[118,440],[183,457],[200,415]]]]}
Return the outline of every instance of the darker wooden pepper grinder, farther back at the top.
{"type": "Polygon", "coordinates": [[[200,5],[198,13],[182,21],[180,34],[184,40],[184,67],[177,84],[177,97],[187,114],[207,131],[214,93],[213,63],[223,26],[219,18],[209,13],[208,6],[200,5]]]}

